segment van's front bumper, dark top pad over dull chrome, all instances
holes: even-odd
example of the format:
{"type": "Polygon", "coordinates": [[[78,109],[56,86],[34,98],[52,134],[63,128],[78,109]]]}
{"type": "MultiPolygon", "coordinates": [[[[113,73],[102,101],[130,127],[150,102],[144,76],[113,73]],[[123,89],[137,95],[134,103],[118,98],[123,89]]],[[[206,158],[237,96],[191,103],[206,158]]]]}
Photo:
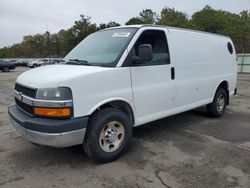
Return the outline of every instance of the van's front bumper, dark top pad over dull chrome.
{"type": "Polygon", "coordinates": [[[13,127],[28,141],[52,146],[68,147],[82,144],[89,117],[46,119],[30,117],[16,105],[8,109],[13,127]]]}

